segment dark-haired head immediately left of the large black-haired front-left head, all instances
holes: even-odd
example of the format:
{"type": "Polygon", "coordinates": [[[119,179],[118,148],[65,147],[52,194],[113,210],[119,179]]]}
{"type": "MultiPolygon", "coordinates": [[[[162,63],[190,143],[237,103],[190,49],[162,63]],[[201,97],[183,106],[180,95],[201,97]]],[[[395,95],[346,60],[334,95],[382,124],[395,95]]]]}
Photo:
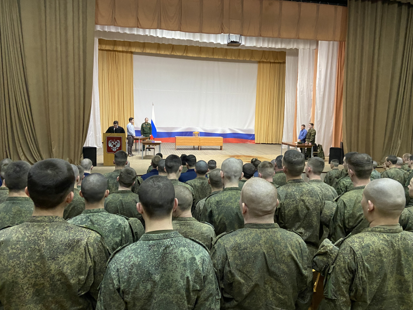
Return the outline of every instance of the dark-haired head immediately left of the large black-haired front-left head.
{"type": "Polygon", "coordinates": [[[27,186],[27,175],[32,166],[26,161],[14,161],[4,168],[4,181],[10,192],[22,191],[27,186]]]}

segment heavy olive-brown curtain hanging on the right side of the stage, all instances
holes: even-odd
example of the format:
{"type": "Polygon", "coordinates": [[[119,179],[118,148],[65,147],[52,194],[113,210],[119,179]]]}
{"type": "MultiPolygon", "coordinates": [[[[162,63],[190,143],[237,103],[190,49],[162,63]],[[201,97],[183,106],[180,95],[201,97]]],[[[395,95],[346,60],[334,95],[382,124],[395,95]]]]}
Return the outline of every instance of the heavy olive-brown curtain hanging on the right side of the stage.
{"type": "Polygon", "coordinates": [[[344,150],[380,161],[413,151],[413,6],[349,0],[344,150]]]}

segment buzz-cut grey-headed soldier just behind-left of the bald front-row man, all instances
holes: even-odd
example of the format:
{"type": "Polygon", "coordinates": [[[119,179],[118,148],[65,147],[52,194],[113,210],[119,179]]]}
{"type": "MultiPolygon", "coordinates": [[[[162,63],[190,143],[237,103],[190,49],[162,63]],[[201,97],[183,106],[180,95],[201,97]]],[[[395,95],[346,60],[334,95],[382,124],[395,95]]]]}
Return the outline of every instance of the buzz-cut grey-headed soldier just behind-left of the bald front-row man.
{"type": "Polygon", "coordinates": [[[240,210],[240,195],[238,181],[242,178],[242,165],[237,158],[227,158],[221,165],[221,178],[224,189],[205,200],[200,221],[214,226],[218,236],[224,232],[244,227],[240,210]]]}

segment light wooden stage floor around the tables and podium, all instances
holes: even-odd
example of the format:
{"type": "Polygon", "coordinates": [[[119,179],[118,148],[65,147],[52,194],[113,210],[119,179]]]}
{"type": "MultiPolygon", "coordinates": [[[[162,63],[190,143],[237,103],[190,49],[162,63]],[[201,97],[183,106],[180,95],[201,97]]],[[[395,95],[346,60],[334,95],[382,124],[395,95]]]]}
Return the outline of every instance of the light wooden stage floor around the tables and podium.
{"type": "MultiPolygon", "coordinates": [[[[287,149],[284,147],[283,153],[287,149]]],[[[128,157],[130,166],[135,169],[137,174],[141,175],[146,173],[148,166],[151,164],[151,158],[154,152],[148,152],[148,156],[143,156],[141,159],[140,152],[135,152],[135,146],[133,147],[133,153],[135,156],[128,157]],[[149,155],[151,153],[151,155],[149,155]]],[[[155,154],[158,153],[158,148],[155,147],[155,154]]],[[[271,161],[281,154],[281,144],[247,144],[247,143],[224,143],[223,150],[220,150],[219,146],[204,146],[200,151],[194,149],[192,146],[178,146],[178,150],[175,151],[175,143],[162,143],[161,153],[163,158],[168,155],[175,154],[180,156],[181,154],[192,154],[196,156],[197,160],[214,159],[217,162],[217,167],[221,167],[222,162],[228,157],[240,158],[244,163],[250,162],[252,158],[258,157],[259,160],[271,161]]],[[[145,154],[144,154],[145,155],[145,154]]],[[[325,172],[331,170],[328,163],[328,157],[326,157],[325,172]]],[[[114,167],[103,166],[103,148],[97,151],[97,164],[98,167],[93,168],[93,172],[106,173],[113,171],[114,167]]],[[[339,169],[343,169],[343,166],[339,166],[339,169]]]]}

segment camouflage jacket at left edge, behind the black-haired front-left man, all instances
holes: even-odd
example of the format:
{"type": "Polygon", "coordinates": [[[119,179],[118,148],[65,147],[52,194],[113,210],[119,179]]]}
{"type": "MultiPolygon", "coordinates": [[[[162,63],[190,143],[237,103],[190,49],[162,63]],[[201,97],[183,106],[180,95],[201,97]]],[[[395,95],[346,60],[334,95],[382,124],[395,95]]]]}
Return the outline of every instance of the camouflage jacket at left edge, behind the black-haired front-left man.
{"type": "Polygon", "coordinates": [[[26,221],[32,216],[33,207],[33,200],[29,197],[7,197],[0,204],[0,229],[26,221]]]}

